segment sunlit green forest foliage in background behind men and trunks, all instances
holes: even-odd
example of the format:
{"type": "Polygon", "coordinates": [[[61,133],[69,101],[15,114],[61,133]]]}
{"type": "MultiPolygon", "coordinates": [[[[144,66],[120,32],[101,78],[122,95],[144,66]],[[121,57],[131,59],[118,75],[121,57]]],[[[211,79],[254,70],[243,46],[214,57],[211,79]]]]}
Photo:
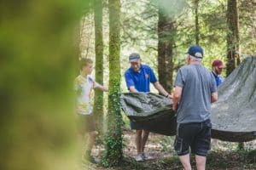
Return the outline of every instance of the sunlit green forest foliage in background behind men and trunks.
{"type": "MultiPolygon", "coordinates": [[[[167,1],[168,3],[168,1],[167,1]]],[[[172,3],[170,1],[169,3],[172,3]]],[[[177,2],[177,3],[183,3],[177,2]]],[[[174,5],[166,5],[169,11],[174,5]]],[[[182,7],[182,5],[180,5],[182,7]]],[[[251,0],[239,1],[240,12],[240,47],[241,54],[253,54],[255,44],[255,3],[251,0]]],[[[173,51],[173,67],[174,77],[175,71],[182,65],[186,64],[184,53],[190,45],[195,44],[195,9],[193,1],[189,0],[183,5],[183,10],[178,11],[175,27],[177,32],[172,36],[175,39],[173,51]]],[[[169,12],[167,10],[167,12],[169,12]]],[[[205,49],[205,59],[203,64],[207,68],[212,69],[213,59],[222,59],[226,64],[226,10],[227,4],[225,0],[218,1],[199,1],[199,26],[200,26],[200,43],[205,49]]],[[[108,13],[104,14],[105,25],[108,23],[108,13]]],[[[143,63],[153,67],[157,71],[157,24],[158,24],[158,6],[157,1],[121,1],[121,15],[120,15],[120,42],[121,42],[121,73],[129,68],[128,55],[132,52],[138,52],[142,55],[143,63]]],[[[106,26],[105,26],[106,27],[106,26]]],[[[108,28],[103,32],[108,35],[108,28]]],[[[170,35],[171,36],[171,35],[170,35]]],[[[104,37],[106,42],[106,49],[104,54],[108,55],[108,38],[104,37]]],[[[108,60],[107,60],[108,61],[108,60]]],[[[108,68],[108,64],[104,64],[108,68]]],[[[108,75],[108,71],[105,71],[108,75]]],[[[223,71],[223,76],[225,72],[223,71]]],[[[106,77],[108,78],[108,77],[106,77]]],[[[121,77],[121,90],[127,91],[125,87],[125,80],[121,77]]]]}

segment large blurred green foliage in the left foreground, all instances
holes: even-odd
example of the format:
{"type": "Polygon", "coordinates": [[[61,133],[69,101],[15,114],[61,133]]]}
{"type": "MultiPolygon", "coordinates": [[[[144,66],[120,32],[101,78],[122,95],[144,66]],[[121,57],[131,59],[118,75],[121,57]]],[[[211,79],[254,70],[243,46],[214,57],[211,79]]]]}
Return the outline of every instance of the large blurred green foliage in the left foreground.
{"type": "Polygon", "coordinates": [[[82,7],[1,1],[0,169],[74,169],[74,37],[82,7]]]}

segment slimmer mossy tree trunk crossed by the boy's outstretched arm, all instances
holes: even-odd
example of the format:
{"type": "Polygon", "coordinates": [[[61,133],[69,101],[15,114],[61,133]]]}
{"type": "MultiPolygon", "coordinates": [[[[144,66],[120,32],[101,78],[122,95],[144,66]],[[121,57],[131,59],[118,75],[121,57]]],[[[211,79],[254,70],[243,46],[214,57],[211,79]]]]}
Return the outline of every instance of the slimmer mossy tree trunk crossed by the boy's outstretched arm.
{"type": "MultiPolygon", "coordinates": [[[[94,1],[95,21],[95,54],[96,54],[96,82],[103,83],[103,36],[102,36],[102,0],[94,1]]],[[[103,92],[95,91],[93,111],[96,116],[96,127],[102,133],[103,124],[103,92]]]]}

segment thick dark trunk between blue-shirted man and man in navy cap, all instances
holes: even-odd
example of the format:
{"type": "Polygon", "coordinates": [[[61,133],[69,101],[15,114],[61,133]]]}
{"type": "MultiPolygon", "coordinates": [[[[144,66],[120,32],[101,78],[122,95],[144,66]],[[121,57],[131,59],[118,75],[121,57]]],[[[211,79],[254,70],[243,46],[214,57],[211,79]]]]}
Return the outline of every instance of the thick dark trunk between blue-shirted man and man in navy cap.
{"type": "Polygon", "coordinates": [[[159,82],[167,92],[172,91],[173,71],[173,37],[175,34],[172,19],[166,16],[159,8],[158,21],[158,74],[159,82]]]}

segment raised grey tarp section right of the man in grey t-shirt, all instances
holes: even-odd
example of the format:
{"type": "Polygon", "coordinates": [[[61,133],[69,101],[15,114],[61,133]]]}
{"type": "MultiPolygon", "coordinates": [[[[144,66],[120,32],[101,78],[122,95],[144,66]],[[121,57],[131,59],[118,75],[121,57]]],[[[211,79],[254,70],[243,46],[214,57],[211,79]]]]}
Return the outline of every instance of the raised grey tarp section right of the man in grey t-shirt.
{"type": "Polygon", "coordinates": [[[218,87],[212,105],[212,138],[256,139],[256,57],[248,57],[218,87]]]}

